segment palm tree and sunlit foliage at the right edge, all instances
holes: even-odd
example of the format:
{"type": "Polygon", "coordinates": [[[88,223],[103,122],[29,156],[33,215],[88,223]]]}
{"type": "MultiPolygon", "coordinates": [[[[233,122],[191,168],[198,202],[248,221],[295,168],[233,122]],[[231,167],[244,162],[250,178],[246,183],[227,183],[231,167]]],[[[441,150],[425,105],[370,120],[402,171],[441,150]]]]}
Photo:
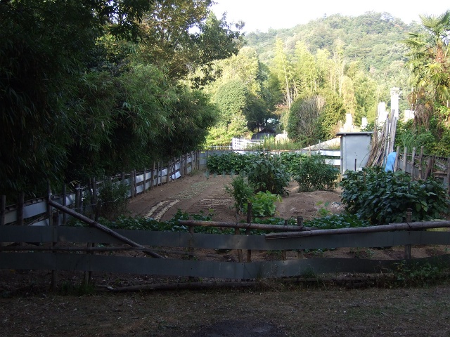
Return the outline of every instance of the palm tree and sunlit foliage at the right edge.
{"type": "Polygon", "coordinates": [[[450,11],[442,15],[420,15],[420,27],[409,32],[409,102],[415,111],[413,124],[397,130],[399,146],[424,146],[427,154],[450,155],[450,11]]]}

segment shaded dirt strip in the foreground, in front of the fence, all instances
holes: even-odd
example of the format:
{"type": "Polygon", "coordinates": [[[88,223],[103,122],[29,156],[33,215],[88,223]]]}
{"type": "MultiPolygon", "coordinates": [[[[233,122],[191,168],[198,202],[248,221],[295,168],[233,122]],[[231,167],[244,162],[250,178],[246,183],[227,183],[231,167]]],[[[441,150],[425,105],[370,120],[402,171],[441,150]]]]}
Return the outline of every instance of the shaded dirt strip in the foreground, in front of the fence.
{"type": "Polygon", "coordinates": [[[235,289],[0,298],[2,336],[450,334],[450,288],[235,289]]]}

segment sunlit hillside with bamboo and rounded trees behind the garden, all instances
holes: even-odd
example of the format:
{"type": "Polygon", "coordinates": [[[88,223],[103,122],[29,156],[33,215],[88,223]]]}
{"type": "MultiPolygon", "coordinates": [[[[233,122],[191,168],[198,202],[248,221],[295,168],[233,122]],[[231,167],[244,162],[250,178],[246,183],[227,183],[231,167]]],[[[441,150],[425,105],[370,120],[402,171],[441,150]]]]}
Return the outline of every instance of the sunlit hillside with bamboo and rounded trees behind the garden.
{"type": "MultiPolygon", "coordinates": [[[[346,113],[356,125],[373,122],[379,102],[389,109],[391,88],[409,91],[403,41],[413,29],[366,13],[248,34],[238,55],[215,63],[220,75],[206,87],[225,112],[207,144],[276,128],[301,146],[333,138],[346,113]]],[[[401,111],[410,107],[406,96],[401,111]]]]}

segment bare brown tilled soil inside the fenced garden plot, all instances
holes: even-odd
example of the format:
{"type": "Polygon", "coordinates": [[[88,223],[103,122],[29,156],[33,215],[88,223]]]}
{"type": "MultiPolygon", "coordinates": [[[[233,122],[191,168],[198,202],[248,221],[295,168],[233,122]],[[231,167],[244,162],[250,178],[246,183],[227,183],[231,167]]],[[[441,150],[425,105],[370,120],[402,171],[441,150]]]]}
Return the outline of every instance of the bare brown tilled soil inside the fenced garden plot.
{"type": "MultiPolygon", "coordinates": [[[[177,209],[191,214],[212,211],[213,220],[236,221],[233,197],[225,190],[231,180],[231,176],[206,176],[197,172],[141,194],[131,200],[129,211],[133,216],[158,220],[169,220],[177,209]]],[[[302,216],[309,220],[318,216],[319,211],[340,211],[340,191],[298,192],[296,183],[292,183],[288,192],[277,205],[276,216],[280,218],[302,216]]],[[[240,219],[243,216],[238,217],[240,219]]]]}

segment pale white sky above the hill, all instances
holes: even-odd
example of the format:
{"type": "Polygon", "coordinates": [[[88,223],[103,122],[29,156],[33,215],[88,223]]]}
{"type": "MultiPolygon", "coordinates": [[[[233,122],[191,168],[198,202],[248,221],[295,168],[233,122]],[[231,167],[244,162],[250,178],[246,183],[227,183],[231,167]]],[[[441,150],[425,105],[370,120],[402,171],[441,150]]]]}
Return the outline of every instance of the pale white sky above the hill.
{"type": "Polygon", "coordinates": [[[243,32],[267,32],[269,28],[292,28],[324,15],[358,16],[387,12],[405,23],[420,21],[419,14],[440,15],[450,9],[444,0],[214,0],[217,18],[227,12],[227,22],[243,20],[243,32]]]}

